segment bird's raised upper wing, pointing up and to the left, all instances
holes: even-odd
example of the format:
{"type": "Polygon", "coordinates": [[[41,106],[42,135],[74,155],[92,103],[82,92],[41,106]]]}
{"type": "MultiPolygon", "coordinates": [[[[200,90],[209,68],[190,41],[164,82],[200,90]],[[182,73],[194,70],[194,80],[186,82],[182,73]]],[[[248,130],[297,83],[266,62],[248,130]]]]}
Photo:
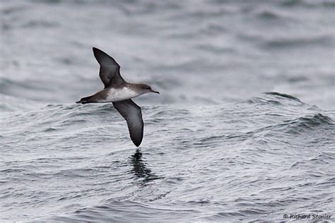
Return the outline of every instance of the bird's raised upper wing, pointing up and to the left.
{"type": "Polygon", "coordinates": [[[120,75],[120,66],[117,64],[112,56],[109,56],[102,50],[93,47],[93,54],[100,64],[100,79],[105,85],[105,88],[122,85],[126,83],[120,75]]]}

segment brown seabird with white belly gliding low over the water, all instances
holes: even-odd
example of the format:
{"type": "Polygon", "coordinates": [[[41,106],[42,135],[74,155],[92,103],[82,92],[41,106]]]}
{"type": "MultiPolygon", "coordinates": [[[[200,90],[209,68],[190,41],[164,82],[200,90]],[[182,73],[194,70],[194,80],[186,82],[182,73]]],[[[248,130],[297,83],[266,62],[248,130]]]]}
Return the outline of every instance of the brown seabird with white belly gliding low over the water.
{"type": "Polygon", "coordinates": [[[94,95],[83,97],[77,104],[109,103],[112,102],[115,109],[127,121],[131,141],[139,147],[143,139],[143,119],[141,107],[131,98],[138,97],[149,92],[157,93],[151,86],[143,83],[128,83],[120,74],[120,66],[112,56],[101,49],[93,47],[95,59],[100,64],[99,76],[104,89],[94,95]]]}

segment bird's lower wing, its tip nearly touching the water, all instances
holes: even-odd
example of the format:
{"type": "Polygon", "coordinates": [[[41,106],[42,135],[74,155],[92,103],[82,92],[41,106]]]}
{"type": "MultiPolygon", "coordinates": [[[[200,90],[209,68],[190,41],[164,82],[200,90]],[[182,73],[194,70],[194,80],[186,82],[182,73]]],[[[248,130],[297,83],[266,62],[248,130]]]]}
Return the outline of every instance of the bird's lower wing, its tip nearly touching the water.
{"type": "Polygon", "coordinates": [[[113,102],[114,107],[119,111],[119,114],[127,121],[130,138],[133,143],[139,147],[143,139],[143,119],[141,107],[135,104],[132,100],[124,100],[113,102]]]}

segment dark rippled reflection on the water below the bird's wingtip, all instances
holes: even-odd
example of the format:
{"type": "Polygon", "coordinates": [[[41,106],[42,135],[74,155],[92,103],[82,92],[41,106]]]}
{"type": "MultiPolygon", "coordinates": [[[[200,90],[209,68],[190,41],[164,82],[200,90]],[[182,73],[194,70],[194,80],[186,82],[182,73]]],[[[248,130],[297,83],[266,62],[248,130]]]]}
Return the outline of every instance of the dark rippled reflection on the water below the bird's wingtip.
{"type": "Polygon", "coordinates": [[[134,155],[131,155],[130,162],[133,167],[131,173],[134,173],[137,178],[142,179],[143,183],[160,179],[160,177],[156,176],[151,169],[146,167],[146,162],[143,162],[142,152],[139,149],[136,150],[134,155]]]}

